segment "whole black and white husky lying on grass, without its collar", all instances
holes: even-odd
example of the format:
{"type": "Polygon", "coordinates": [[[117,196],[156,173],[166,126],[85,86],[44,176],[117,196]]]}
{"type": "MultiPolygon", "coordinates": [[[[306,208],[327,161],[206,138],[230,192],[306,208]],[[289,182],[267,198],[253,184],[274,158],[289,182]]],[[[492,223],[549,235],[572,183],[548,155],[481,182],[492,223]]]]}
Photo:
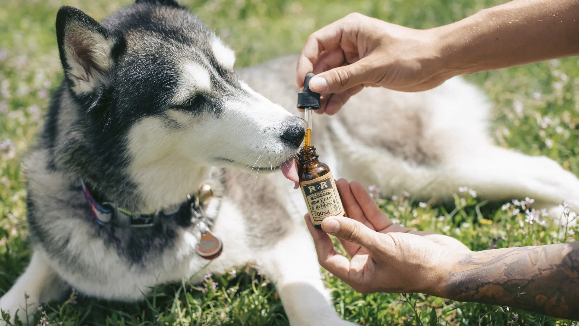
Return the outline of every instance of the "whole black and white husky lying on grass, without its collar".
{"type": "MultiPolygon", "coordinates": [[[[24,320],[71,287],[141,300],[158,284],[259,261],[291,325],[350,325],[320,279],[302,195],[276,172],[303,137],[297,58],[234,71],[232,50],[173,0],[140,0],[101,24],[63,7],[56,29],[64,81],[25,163],[34,254],[0,308],[24,320]],[[174,220],[96,223],[81,179],[102,200],[143,213],[179,204],[208,180],[219,193],[207,211],[222,255],[204,268],[195,227],[174,220]]],[[[488,117],[485,97],[460,78],[420,93],[368,88],[336,116],[316,116],[314,143],[335,176],[386,195],[448,198],[467,186],[489,200],[579,206],[576,176],[494,146],[488,117]]]]}

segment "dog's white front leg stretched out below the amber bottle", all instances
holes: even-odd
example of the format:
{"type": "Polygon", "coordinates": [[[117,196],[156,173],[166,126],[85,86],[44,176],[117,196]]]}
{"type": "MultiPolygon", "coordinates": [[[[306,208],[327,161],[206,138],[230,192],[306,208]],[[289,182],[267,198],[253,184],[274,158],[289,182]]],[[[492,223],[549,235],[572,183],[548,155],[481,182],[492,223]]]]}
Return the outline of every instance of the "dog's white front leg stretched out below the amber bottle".
{"type": "Polygon", "coordinates": [[[312,238],[295,227],[262,256],[261,268],[276,284],[291,326],[354,325],[338,317],[320,277],[312,238]]]}

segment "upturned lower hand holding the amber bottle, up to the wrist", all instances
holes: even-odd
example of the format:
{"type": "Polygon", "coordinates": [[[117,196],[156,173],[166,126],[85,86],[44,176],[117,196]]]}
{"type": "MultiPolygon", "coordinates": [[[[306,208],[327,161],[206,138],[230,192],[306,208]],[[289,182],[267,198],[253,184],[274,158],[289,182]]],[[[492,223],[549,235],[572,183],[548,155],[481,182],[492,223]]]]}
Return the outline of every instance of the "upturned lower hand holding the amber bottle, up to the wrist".
{"type": "Polygon", "coordinates": [[[393,224],[358,182],[336,181],[348,217],[306,224],[320,265],[358,292],[421,292],[442,296],[450,271],[471,251],[455,238],[393,224]],[[325,231],[325,232],[324,232],[325,231]],[[336,236],[350,260],[336,252],[336,236]]]}

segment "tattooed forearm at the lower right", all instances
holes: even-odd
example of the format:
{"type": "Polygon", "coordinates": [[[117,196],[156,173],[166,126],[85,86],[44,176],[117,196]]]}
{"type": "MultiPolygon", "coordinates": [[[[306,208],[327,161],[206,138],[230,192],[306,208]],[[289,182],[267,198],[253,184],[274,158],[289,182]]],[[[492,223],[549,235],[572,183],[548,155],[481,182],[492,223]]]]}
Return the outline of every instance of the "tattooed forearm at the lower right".
{"type": "Polygon", "coordinates": [[[472,252],[445,296],[579,319],[579,241],[472,252]]]}

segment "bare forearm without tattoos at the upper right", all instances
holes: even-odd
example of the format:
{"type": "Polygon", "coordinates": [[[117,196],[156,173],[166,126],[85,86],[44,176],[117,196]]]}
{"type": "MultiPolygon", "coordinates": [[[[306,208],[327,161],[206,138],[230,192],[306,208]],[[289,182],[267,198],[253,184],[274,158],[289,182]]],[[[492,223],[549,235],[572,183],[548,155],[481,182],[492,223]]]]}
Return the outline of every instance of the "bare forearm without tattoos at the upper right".
{"type": "Polygon", "coordinates": [[[442,74],[579,54],[579,1],[515,0],[433,29],[442,74]]]}

